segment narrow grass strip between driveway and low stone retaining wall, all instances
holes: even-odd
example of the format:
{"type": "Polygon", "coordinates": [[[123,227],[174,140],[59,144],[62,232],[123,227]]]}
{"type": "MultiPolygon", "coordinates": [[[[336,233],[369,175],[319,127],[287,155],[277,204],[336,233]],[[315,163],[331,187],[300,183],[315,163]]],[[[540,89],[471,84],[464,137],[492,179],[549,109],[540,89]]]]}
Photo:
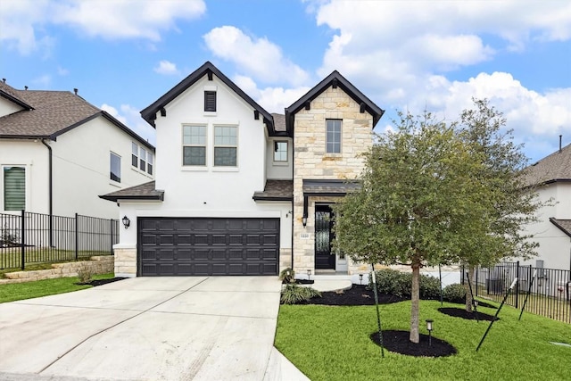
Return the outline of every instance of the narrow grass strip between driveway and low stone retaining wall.
{"type": "MultiPolygon", "coordinates": [[[[113,273],[94,275],[93,279],[108,279],[113,273]]],[[[71,291],[91,288],[89,285],[76,285],[78,277],[59,277],[56,279],[37,280],[35,282],[12,283],[0,285],[0,302],[13,302],[40,296],[64,294],[71,291]]]]}

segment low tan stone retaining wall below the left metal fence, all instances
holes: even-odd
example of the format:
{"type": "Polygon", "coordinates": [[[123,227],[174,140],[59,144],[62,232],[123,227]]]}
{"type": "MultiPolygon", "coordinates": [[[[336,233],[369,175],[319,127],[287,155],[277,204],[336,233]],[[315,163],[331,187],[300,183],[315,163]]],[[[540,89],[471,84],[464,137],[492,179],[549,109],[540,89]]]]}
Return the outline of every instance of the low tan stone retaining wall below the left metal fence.
{"type": "Polygon", "coordinates": [[[14,271],[5,273],[6,279],[0,279],[0,285],[23,283],[34,280],[54,279],[56,277],[77,277],[79,269],[87,267],[92,274],[113,272],[115,258],[112,255],[90,257],[88,261],[54,263],[53,269],[14,271]]]}

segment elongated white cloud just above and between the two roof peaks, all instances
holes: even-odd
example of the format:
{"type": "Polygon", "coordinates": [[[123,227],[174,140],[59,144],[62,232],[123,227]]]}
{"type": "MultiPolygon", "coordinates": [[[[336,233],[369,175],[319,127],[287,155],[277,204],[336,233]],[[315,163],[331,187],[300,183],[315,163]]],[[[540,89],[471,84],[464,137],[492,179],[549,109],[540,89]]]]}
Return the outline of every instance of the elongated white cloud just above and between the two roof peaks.
{"type": "Polygon", "coordinates": [[[203,36],[212,54],[236,64],[245,74],[269,84],[304,84],[309,75],[291,62],[276,44],[266,37],[250,37],[236,27],[211,29],[203,36]]]}

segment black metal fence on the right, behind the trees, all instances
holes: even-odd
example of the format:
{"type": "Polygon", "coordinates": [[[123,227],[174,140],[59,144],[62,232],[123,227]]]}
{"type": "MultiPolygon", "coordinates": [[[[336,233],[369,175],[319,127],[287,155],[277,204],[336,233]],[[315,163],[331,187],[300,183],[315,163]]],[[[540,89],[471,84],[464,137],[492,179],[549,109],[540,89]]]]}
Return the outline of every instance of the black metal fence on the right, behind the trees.
{"type": "MultiPolygon", "coordinates": [[[[571,271],[534,268],[517,262],[501,262],[478,268],[471,275],[476,296],[501,302],[509,286],[518,281],[506,303],[517,309],[571,323],[571,271]]],[[[462,271],[462,283],[466,272],[462,271]]]]}

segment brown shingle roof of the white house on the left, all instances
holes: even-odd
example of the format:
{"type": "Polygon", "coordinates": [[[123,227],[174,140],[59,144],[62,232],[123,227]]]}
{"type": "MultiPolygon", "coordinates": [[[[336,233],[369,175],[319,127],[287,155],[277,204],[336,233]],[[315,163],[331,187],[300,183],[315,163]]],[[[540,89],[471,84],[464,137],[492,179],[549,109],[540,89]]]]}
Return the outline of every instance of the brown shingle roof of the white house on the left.
{"type": "Polygon", "coordinates": [[[69,91],[17,90],[2,82],[0,94],[6,99],[6,95],[11,96],[12,102],[25,109],[0,117],[0,138],[55,140],[70,129],[101,116],[154,151],[153,145],[111,114],[69,91]]]}

